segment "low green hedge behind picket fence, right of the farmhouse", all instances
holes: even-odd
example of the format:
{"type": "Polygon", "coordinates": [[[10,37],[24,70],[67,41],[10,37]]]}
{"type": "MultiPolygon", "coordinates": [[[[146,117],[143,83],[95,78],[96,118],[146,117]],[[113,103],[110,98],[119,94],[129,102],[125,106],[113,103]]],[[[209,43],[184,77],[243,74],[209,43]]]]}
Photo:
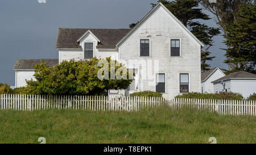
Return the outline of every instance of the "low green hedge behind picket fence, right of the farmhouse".
{"type": "Polygon", "coordinates": [[[195,98],[195,99],[229,99],[229,100],[241,100],[243,99],[241,94],[232,92],[220,92],[216,94],[203,94],[203,93],[187,93],[177,95],[175,98],[195,98]]]}

